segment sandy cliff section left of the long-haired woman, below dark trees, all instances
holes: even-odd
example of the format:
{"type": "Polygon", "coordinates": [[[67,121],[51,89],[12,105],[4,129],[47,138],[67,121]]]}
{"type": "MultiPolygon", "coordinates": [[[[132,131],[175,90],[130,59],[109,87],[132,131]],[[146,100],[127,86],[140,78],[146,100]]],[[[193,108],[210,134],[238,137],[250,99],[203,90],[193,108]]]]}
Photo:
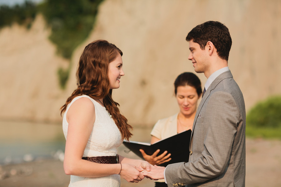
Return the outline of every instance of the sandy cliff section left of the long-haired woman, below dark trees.
{"type": "Polygon", "coordinates": [[[56,55],[49,33],[41,15],[30,30],[17,24],[0,30],[1,119],[60,119],[64,95],[57,70],[68,62],[56,55]]]}

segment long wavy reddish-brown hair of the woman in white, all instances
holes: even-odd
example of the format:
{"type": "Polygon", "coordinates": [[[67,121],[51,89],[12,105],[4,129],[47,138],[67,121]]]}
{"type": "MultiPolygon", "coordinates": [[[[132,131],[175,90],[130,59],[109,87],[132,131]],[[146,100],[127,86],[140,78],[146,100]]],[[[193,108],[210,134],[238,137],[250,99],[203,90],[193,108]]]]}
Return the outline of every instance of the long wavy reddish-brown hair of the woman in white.
{"type": "Polygon", "coordinates": [[[93,99],[103,98],[104,106],[112,115],[122,138],[129,140],[132,136],[132,126],[120,113],[119,104],[112,99],[112,89],[109,89],[108,65],[118,54],[123,55],[119,48],[106,40],[97,40],[88,44],[80,57],[76,72],[77,89],[60,110],[62,115],[72,99],[79,95],[88,95],[93,99]]]}

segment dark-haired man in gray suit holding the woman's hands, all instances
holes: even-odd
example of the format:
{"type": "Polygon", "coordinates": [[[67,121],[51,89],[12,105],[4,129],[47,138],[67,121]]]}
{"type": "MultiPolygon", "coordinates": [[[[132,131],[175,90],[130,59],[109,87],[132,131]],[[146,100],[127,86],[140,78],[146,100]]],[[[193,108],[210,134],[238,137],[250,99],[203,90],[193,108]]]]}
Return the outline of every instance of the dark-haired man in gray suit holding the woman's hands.
{"type": "Polygon", "coordinates": [[[156,166],[144,175],[165,178],[168,187],[243,187],[246,114],[243,95],[228,67],[229,30],[209,21],[193,28],[186,40],[195,72],[207,77],[193,123],[189,162],[156,166]]]}

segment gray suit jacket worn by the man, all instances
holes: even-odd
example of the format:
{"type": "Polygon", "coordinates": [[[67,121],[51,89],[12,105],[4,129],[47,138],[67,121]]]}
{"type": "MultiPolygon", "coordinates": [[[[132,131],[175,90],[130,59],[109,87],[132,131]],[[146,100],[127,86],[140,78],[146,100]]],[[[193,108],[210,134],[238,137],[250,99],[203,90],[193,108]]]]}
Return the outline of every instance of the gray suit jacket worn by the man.
{"type": "Polygon", "coordinates": [[[231,72],[220,74],[197,109],[189,162],[166,167],[168,186],[245,186],[245,116],[231,72]]]}

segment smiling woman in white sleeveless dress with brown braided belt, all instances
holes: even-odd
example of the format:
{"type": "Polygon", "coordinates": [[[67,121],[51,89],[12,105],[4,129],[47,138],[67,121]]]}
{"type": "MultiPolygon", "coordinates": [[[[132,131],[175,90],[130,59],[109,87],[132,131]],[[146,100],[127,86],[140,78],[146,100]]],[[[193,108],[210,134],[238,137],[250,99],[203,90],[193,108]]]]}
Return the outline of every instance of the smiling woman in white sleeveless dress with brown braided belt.
{"type": "Polygon", "coordinates": [[[80,57],[77,89],[61,108],[66,138],[63,166],[71,175],[69,187],[118,187],[120,176],[139,182],[144,178],[141,171],[153,167],[117,154],[116,147],[132,135],[131,125],[111,97],[124,76],[122,54],[114,44],[97,40],[80,57]]]}

